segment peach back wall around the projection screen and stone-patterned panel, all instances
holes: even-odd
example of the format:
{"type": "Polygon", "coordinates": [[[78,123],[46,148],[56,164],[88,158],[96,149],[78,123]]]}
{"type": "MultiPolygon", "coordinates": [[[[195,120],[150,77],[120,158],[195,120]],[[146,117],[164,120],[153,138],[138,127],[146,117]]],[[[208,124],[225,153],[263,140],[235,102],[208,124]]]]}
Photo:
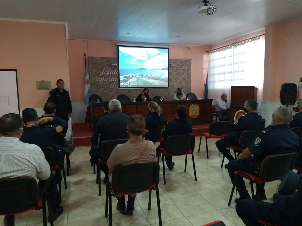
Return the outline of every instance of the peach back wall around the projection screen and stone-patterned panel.
{"type": "MultiPolygon", "coordinates": [[[[70,86],[72,102],[83,102],[84,96],[84,74],[85,65],[83,54],[93,57],[114,57],[117,58],[117,45],[115,42],[71,40],[67,41],[70,86]]],[[[192,92],[198,98],[204,96],[204,83],[207,77],[208,68],[208,47],[193,47],[187,50],[186,46],[170,46],[170,59],[191,59],[191,87],[192,92]]],[[[175,65],[177,67],[177,65],[175,65]]],[[[185,93],[189,92],[184,90],[185,93]]]]}

